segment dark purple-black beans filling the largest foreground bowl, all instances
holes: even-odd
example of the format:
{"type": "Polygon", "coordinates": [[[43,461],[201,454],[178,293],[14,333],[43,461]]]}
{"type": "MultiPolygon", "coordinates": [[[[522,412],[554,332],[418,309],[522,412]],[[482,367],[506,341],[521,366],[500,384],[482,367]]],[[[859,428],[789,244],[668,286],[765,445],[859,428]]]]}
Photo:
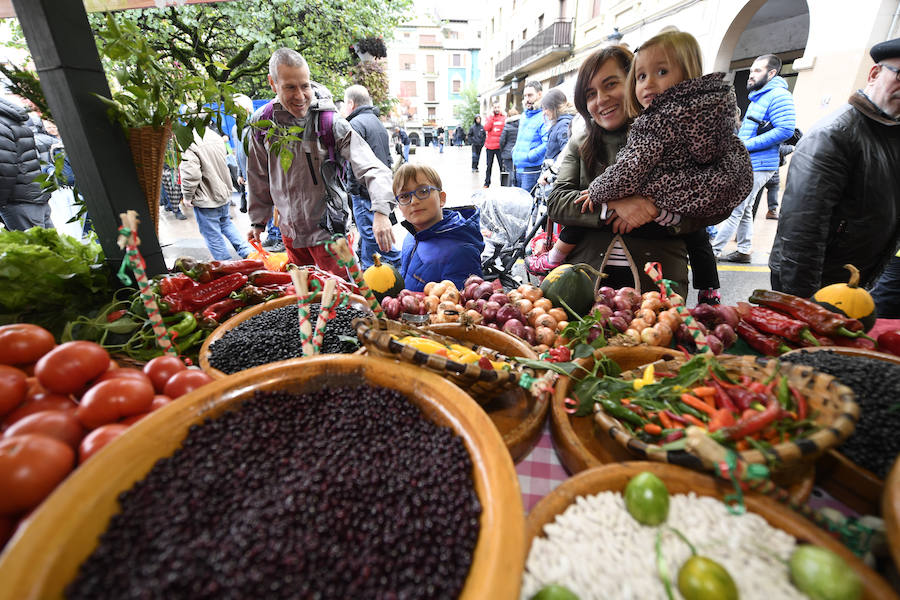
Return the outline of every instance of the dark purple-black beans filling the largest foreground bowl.
{"type": "Polygon", "coordinates": [[[481,513],[463,441],[371,387],[257,393],[119,501],[68,598],[455,598],[481,513]]]}

